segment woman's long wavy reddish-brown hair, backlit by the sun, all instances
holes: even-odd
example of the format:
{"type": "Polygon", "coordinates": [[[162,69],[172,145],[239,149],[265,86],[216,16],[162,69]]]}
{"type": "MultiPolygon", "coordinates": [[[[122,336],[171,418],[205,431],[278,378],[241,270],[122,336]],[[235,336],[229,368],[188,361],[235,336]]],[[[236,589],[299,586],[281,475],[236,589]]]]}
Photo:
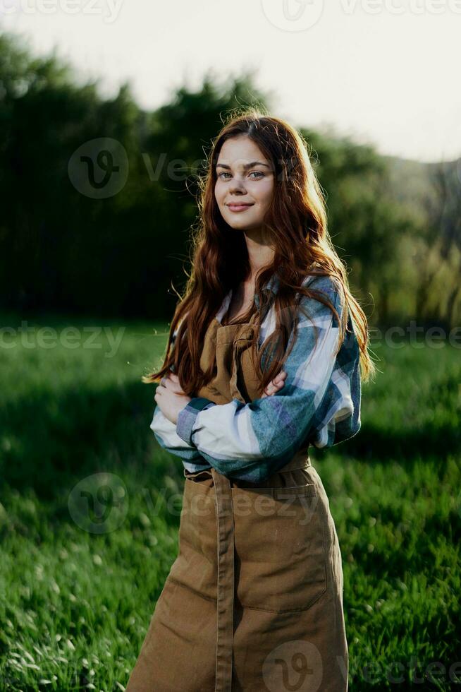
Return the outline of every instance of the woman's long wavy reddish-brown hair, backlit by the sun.
{"type": "Polygon", "coordinates": [[[192,242],[192,268],[171,321],[164,364],[159,371],[143,375],[142,381],[159,382],[174,365],[180,386],[188,396],[193,397],[213,376],[213,363],[206,372],[199,364],[204,335],[230,288],[235,290],[250,275],[244,234],[235,232],[223,220],[214,196],[216,162],[221,147],[226,140],[241,135],[249,137],[271,160],[275,172],[273,198],[264,218],[268,237],[274,247],[273,264],[261,271],[255,282],[254,292],[259,297],[261,311],[256,316],[252,306],[241,320],[248,321],[252,314],[255,316],[257,330],[253,345],[257,347],[259,326],[273,299],[273,294],[263,292],[262,288],[275,274],[279,280],[275,297],[276,328],[259,350],[257,371],[260,393],[283,369],[283,362],[293,347],[292,343],[286,351],[300,297],[305,295],[321,300],[339,321],[338,312],[325,299],[324,293],[301,285],[308,274],[331,276],[340,290],[341,304],[345,309],[339,321],[338,350],[345,338],[350,314],[359,345],[361,378],[368,381],[376,367],[368,352],[367,317],[350,292],[345,265],[327,231],[324,195],[309,158],[309,146],[290,124],[256,109],[246,109],[230,116],[212,144],[207,170],[199,179],[199,226],[192,242]],[[296,294],[299,296],[297,299],[296,294]],[[171,348],[176,328],[178,334],[171,348]],[[271,365],[263,370],[262,362],[268,354],[271,365]]]}

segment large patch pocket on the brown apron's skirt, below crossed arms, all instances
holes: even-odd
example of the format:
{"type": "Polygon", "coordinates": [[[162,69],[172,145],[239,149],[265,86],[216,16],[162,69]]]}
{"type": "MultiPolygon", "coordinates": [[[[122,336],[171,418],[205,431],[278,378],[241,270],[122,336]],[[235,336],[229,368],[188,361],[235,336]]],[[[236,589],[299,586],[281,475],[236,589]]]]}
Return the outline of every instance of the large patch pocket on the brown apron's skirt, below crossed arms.
{"type": "Polygon", "coordinates": [[[232,498],[240,605],[277,613],[307,610],[327,585],[326,512],[316,484],[233,487],[232,498]]]}

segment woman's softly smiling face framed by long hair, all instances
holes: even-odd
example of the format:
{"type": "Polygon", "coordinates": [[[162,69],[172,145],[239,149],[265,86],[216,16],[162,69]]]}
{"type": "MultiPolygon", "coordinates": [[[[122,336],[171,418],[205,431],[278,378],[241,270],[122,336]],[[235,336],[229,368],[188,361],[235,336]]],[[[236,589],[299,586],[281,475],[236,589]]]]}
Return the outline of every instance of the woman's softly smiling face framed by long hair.
{"type": "Polygon", "coordinates": [[[273,188],[271,162],[250,138],[239,135],[224,142],[216,163],[214,194],[228,225],[262,232],[273,188]]]}

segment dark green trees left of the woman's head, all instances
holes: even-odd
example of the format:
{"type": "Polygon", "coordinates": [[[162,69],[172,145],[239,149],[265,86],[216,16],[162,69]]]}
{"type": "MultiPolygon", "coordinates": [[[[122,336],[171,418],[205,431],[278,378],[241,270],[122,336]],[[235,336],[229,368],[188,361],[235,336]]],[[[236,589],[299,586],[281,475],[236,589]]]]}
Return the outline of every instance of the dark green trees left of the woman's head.
{"type": "Polygon", "coordinates": [[[199,92],[180,89],[170,105],[146,113],[128,84],[104,101],[94,85],[75,85],[55,57],[32,59],[6,35],[2,48],[2,304],[171,316],[176,298],[167,292],[172,277],[179,288],[184,281],[187,231],[197,215],[194,162],[203,160],[223,114],[259,99],[250,76],[221,88],[205,80],[199,92]],[[128,175],[117,194],[95,199],[75,189],[68,164],[80,145],[102,137],[121,144],[128,175]]]}

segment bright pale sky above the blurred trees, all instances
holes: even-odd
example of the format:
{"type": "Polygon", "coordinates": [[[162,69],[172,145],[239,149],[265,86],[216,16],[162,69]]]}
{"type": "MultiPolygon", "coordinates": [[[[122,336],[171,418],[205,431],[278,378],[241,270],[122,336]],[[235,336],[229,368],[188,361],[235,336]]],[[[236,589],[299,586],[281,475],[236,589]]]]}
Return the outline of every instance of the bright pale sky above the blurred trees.
{"type": "MultiPolygon", "coordinates": [[[[254,69],[271,114],[381,153],[461,156],[461,0],[0,0],[0,28],[154,109],[254,69]]],[[[238,104],[235,104],[238,105],[238,104]]]]}

